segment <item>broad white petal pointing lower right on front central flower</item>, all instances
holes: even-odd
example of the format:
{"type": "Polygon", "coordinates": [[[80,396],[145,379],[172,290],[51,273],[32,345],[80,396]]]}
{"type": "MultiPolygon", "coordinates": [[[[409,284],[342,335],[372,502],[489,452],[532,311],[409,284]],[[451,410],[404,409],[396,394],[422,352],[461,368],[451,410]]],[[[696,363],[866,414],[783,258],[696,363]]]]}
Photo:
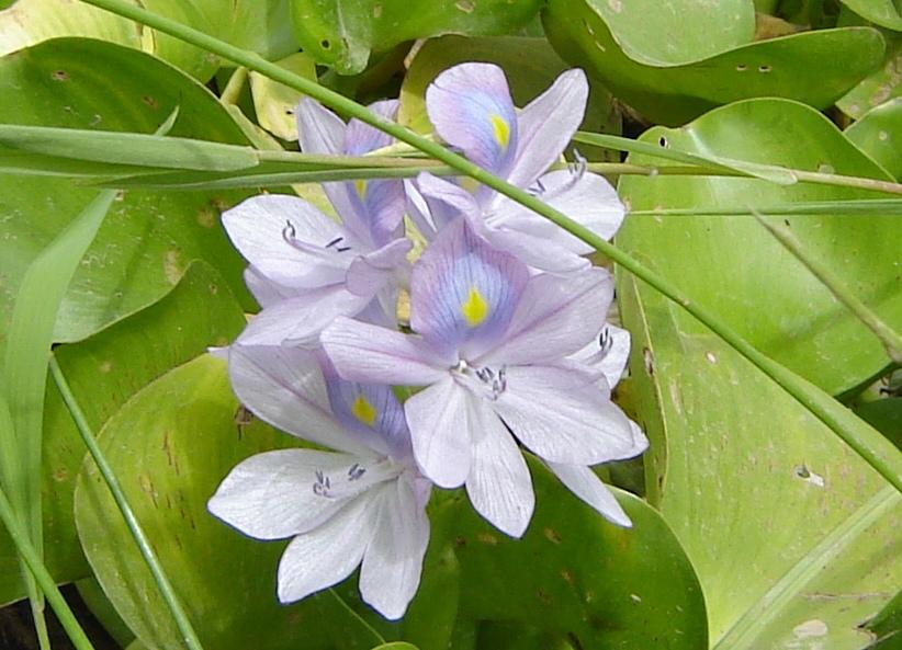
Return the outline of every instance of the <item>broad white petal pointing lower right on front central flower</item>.
{"type": "Polygon", "coordinates": [[[634,456],[630,420],[594,384],[550,366],[514,366],[492,402],[537,456],[567,465],[597,465],[634,456]]]}

